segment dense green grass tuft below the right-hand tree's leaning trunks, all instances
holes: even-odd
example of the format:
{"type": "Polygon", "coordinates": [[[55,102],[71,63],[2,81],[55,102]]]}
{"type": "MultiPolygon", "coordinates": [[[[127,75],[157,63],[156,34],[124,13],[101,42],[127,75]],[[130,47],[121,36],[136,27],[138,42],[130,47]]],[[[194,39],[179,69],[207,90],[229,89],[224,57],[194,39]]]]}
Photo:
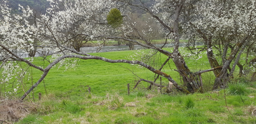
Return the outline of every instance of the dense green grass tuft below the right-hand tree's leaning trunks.
{"type": "Polygon", "coordinates": [[[247,85],[244,83],[233,83],[228,85],[228,94],[231,95],[245,95],[249,92],[247,85]]]}

